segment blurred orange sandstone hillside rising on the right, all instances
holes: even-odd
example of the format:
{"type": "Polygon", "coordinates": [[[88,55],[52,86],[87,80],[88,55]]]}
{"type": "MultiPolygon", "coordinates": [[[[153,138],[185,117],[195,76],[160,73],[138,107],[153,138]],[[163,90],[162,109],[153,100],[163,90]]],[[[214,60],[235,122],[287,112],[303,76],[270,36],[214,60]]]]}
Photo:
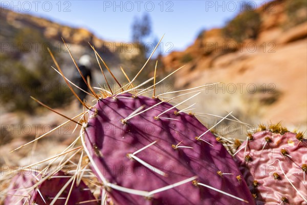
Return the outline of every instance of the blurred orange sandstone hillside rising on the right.
{"type": "Polygon", "coordinates": [[[183,52],[166,56],[174,87],[210,87],[198,110],[258,124],[282,121],[306,129],[307,7],[305,1],[274,1],[245,11],[225,28],[202,32],[183,52]],[[251,18],[251,16],[253,16],[251,18]],[[242,29],[245,28],[245,29],[242,29]]]}

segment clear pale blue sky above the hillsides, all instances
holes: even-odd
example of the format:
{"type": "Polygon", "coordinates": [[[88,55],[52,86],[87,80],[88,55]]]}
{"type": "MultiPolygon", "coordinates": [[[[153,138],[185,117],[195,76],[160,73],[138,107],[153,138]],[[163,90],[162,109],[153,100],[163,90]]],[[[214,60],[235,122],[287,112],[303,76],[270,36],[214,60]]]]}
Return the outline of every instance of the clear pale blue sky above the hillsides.
{"type": "Polygon", "coordinates": [[[164,52],[183,50],[202,29],[222,27],[247,3],[250,9],[268,1],[1,1],[12,11],[83,27],[110,42],[129,42],[135,17],[147,13],[152,42],[160,38],[164,52]]]}

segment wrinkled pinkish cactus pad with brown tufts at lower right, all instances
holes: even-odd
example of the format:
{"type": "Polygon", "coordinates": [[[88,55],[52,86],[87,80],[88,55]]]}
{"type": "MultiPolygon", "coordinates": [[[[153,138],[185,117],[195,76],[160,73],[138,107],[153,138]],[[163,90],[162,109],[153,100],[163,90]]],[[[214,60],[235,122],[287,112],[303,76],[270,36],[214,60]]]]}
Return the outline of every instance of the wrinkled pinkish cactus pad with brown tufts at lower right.
{"type": "Polygon", "coordinates": [[[279,124],[248,135],[235,155],[256,204],[307,204],[307,140],[279,124]]]}

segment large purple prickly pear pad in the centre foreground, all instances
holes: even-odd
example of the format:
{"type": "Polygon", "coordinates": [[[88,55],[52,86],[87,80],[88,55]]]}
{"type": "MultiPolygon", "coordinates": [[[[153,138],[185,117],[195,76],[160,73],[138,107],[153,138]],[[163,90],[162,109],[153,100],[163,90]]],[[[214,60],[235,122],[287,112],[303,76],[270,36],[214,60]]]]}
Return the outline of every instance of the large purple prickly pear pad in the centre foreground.
{"type": "Polygon", "coordinates": [[[193,115],[158,98],[99,99],[81,133],[115,204],[254,204],[223,145],[193,115]]]}

